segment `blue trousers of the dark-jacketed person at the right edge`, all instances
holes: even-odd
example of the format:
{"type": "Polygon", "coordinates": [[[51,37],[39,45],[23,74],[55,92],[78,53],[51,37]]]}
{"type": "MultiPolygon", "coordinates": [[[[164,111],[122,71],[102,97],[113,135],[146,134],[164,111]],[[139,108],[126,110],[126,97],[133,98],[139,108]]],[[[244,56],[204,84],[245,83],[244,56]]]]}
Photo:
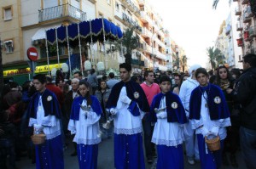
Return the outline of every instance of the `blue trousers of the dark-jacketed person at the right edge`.
{"type": "Polygon", "coordinates": [[[240,127],[241,154],[248,169],[256,169],[256,130],[240,127]]]}

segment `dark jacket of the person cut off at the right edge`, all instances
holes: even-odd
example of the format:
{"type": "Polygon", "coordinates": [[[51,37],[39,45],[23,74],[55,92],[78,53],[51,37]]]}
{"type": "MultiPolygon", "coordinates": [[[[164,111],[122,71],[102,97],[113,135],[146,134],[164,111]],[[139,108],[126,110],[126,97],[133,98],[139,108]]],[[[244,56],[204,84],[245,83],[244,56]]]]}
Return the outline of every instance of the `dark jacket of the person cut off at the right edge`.
{"type": "Polygon", "coordinates": [[[236,82],[234,100],[241,104],[241,126],[256,130],[256,68],[247,69],[236,82]]]}

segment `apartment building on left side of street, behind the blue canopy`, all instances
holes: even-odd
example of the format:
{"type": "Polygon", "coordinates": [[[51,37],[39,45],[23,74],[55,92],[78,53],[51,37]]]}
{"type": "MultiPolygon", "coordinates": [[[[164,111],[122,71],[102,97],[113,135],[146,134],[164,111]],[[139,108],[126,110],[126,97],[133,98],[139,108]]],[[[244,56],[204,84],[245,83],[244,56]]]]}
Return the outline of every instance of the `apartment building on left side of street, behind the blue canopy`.
{"type": "MultiPolygon", "coordinates": [[[[0,7],[3,9],[0,30],[5,78],[15,81],[21,79],[20,83],[29,79],[26,50],[30,47],[38,49],[36,73],[48,71],[45,30],[100,17],[119,25],[122,31],[131,26],[136,27],[135,34],[140,37],[140,45],[132,53],[133,68],[139,71],[145,68],[167,70],[163,20],[147,0],[10,0],[1,1],[0,7]]],[[[87,59],[92,53],[89,48],[87,46],[84,49],[87,59]]],[[[108,48],[112,48],[112,44],[108,44],[108,48]]],[[[104,56],[101,44],[95,44],[92,50],[96,51],[95,55],[104,56]]],[[[59,61],[66,62],[67,46],[59,46],[58,52],[59,61]]],[[[55,46],[49,47],[50,69],[59,66],[56,65],[56,55],[55,46]]],[[[105,67],[116,68],[125,61],[123,55],[122,52],[108,54],[108,66],[105,67]]]]}

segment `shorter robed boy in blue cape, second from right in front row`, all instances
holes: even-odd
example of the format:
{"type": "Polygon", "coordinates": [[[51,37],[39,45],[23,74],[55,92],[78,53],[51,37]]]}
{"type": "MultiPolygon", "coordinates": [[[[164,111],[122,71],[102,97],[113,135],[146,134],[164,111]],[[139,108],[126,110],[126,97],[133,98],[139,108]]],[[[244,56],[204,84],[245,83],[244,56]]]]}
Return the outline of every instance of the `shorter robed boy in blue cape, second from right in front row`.
{"type": "Polygon", "coordinates": [[[155,122],[152,142],[157,148],[158,169],[183,169],[183,124],[187,121],[183,104],[171,91],[169,76],[160,77],[161,93],[150,106],[150,116],[155,122]]]}

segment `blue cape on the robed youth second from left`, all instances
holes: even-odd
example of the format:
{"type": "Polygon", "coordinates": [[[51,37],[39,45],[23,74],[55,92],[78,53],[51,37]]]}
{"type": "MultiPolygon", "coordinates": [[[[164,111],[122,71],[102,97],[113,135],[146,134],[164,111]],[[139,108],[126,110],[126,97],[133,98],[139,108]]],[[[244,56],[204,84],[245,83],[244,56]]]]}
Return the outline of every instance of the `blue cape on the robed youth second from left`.
{"type": "MultiPolygon", "coordinates": [[[[79,121],[79,112],[80,112],[79,104],[82,104],[84,99],[85,99],[84,97],[79,96],[78,98],[73,100],[70,119],[79,121]]],[[[90,105],[91,109],[94,112],[96,112],[97,115],[101,115],[102,114],[102,106],[101,106],[99,100],[96,99],[96,97],[93,95],[90,95],[90,99],[91,99],[91,105],[90,105]]]]}

